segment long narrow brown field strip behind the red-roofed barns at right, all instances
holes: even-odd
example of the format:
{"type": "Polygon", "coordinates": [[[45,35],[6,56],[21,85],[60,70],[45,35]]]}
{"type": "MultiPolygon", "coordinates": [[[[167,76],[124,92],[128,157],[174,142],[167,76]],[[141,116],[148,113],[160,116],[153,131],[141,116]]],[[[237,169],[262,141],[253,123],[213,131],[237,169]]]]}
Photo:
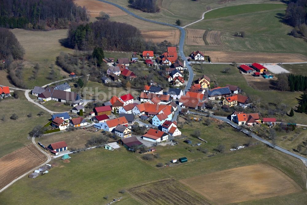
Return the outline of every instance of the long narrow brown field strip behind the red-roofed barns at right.
{"type": "Polygon", "coordinates": [[[281,63],[281,62],[306,62],[307,58],[301,54],[287,53],[245,53],[224,51],[203,51],[210,56],[211,62],[258,62],[258,63],[281,63]]]}

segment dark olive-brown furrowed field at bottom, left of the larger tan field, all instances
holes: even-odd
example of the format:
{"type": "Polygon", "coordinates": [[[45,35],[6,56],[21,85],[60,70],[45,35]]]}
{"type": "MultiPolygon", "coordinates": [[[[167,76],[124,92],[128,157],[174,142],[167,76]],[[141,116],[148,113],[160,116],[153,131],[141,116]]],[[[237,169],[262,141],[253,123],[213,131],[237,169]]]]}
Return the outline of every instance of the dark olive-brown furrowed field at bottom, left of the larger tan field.
{"type": "Polygon", "coordinates": [[[165,179],[128,190],[144,204],[210,204],[174,179],[165,179]]]}

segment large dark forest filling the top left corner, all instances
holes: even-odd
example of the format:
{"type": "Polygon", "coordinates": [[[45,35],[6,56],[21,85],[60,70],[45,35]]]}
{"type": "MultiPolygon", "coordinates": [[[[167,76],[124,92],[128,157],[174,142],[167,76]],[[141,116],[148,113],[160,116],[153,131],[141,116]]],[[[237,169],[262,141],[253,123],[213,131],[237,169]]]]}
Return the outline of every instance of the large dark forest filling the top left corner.
{"type": "Polygon", "coordinates": [[[73,0],[0,0],[0,26],[5,28],[68,28],[89,18],[73,0]]]}

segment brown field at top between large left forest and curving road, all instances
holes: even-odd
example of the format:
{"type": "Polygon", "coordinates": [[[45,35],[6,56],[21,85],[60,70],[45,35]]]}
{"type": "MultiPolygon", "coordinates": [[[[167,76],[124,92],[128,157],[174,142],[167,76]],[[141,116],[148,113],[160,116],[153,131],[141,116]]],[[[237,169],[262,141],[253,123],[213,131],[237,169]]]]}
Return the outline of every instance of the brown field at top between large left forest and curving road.
{"type": "Polygon", "coordinates": [[[111,17],[127,15],[123,10],[97,0],[74,0],[74,2],[79,6],[85,6],[89,10],[91,17],[99,16],[100,11],[109,14],[111,17]]]}

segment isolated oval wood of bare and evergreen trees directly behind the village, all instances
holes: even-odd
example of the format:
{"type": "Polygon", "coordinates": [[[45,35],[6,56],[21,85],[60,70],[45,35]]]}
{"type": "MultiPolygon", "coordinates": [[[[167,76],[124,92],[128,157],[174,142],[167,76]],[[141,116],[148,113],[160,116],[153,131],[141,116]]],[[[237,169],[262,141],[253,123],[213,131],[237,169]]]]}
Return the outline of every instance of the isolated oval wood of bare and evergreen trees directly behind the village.
{"type": "Polygon", "coordinates": [[[68,41],[79,50],[101,47],[103,50],[142,51],[146,43],[136,27],[105,20],[72,24],[68,31],[68,41]]]}

